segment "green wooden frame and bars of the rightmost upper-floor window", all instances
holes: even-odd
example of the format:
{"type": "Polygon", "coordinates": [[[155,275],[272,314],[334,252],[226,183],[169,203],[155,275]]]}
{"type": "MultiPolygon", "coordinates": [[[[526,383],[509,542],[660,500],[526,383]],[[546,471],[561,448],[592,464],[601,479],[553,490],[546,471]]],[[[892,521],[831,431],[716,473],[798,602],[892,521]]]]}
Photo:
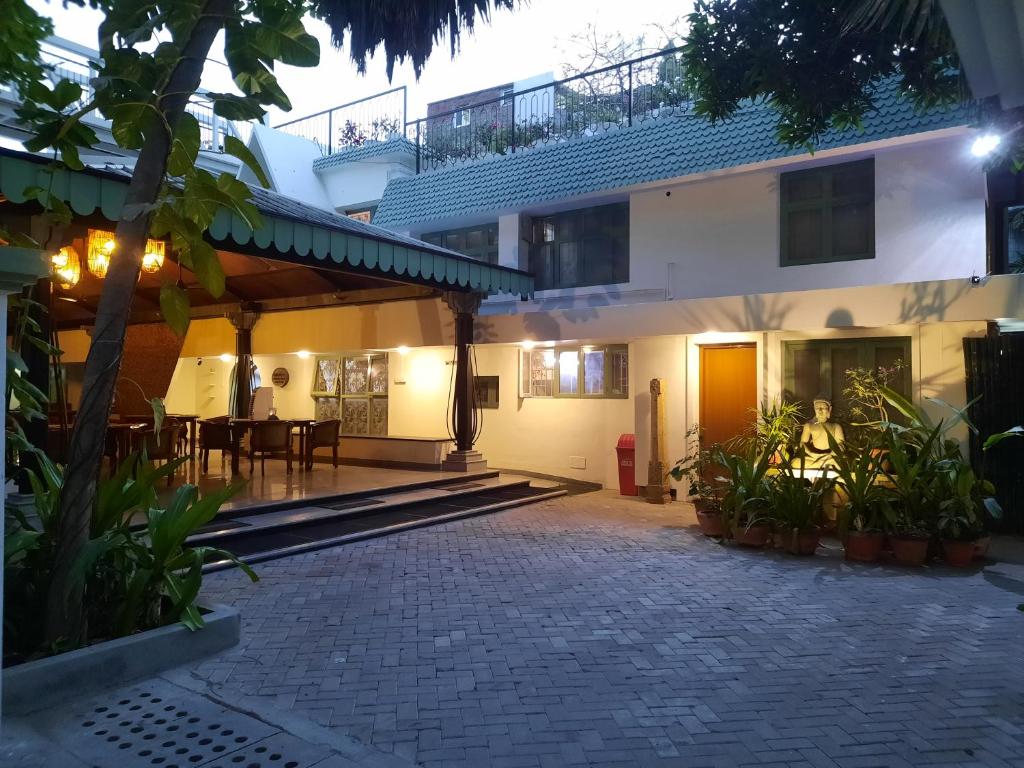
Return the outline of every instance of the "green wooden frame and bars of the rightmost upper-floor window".
{"type": "Polygon", "coordinates": [[[862,261],[874,258],[874,158],[866,160],[856,160],[852,163],[838,163],[835,165],[821,166],[820,168],[808,168],[802,171],[788,171],[779,174],[779,265],[786,266],[807,266],[808,264],[831,264],[839,261],[862,261]],[[870,188],[867,193],[859,195],[833,195],[833,176],[842,171],[849,171],[857,166],[870,167],[870,188]],[[786,201],[786,187],[795,180],[817,176],[821,179],[821,197],[814,200],[804,200],[796,203],[786,201]],[[868,249],[864,253],[854,255],[836,255],[833,253],[833,211],[841,206],[866,203],[870,206],[871,215],[868,217],[868,249]],[[796,260],[790,258],[788,221],[790,214],[798,211],[820,211],[821,212],[821,243],[820,256],[816,259],[796,260]]]}

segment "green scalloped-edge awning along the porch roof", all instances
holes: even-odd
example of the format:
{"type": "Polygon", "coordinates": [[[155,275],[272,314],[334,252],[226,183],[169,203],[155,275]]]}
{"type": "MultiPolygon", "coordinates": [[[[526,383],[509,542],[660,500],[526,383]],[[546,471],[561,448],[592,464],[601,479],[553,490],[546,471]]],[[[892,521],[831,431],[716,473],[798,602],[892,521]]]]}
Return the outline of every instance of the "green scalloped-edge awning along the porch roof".
{"type": "MultiPolygon", "coordinates": [[[[46,159],[0,148],[0,194],[20,204],[27,201],[25,190],[32,186],[52,188],[53,195],[80,216],[98,214],[117,221],[128,188],[128,173],[51,171],[46,159]]],[[[262,226],[254,231],[240,217],[221,211],[207,232],[215,247],[319,269],[336,265],[347,272],[431,288],[522,298],[534,293],[534,278],[528,272],[471,259],[267,189],[252,190],[253,202],[263,216],[262,226]]]]}

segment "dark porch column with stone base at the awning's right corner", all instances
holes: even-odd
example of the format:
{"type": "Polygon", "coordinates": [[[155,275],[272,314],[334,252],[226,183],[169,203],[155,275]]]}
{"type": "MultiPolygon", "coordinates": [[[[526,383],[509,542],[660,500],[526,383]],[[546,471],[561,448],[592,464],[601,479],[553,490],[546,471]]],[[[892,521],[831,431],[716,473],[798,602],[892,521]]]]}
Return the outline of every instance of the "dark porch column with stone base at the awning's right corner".
{"type": "Polygon", "coordinates": [[[455,451],[441,463],[441,469],[449,472],[487,468],[483,456],[473,451],[477,424],[470,345],[473,343],[473,315],[480,308],[480,299],[478,293],[449,291],[444,294],[444,303],[455,314],[455,392],[452,399],[455,451]]]}

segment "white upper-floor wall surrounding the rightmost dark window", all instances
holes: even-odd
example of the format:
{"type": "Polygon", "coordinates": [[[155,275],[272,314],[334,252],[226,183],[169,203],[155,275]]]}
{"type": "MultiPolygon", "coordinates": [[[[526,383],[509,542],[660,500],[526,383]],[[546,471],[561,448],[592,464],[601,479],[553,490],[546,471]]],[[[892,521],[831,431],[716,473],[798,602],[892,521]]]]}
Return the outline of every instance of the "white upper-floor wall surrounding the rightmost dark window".
{"type": "Polygon", "coordinates": [[[962,140],[879,152],[874,172],[876,257],[828,264],[779,265],[778,171],[635,194],[626,290],[664,288],[673,262],[677,299],[985,273],[984,177],[962,140]]]}

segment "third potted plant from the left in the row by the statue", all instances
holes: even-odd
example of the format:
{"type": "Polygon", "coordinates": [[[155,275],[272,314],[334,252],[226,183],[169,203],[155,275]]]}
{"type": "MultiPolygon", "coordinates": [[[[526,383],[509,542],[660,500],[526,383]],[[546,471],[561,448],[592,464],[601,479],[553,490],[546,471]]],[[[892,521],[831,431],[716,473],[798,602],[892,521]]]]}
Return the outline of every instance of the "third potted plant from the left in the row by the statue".
{"type": "Polygon", "coordinates": [[[821,541],[821,505],[834,481],[823,473],[806,477],[803,454],[770,478],[769,504],[776,546],[794,555],[813,555],[821,541]]]}

